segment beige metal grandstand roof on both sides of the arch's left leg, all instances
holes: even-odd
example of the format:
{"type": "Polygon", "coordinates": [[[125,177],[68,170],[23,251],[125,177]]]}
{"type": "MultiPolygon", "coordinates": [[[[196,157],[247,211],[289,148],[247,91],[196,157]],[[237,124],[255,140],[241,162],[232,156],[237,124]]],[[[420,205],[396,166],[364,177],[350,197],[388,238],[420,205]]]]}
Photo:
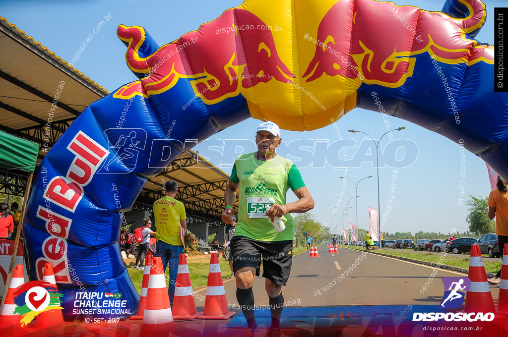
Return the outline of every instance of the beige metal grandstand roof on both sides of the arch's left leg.
{"type": "MultiPolygon", "coordinates": [[[[39,143],[39,159],[44,157],[44,149],[49,150],[87,106],[109,94],[3,17],[0,17],[0,88],[3,117],[0,130],[39,143]],[[61,93],[55,103],[57,107],[51,112],[57,90],[61,93]],[[48,118],[51,118],[49,126],[48,118]]],[[[9,179],[14,178],[19,179],[9,179]]],[[[154,201],[163,196],[164,182],[172,179],[178,182],[176,197],[184,203],[188,216],[220,221],[229,178],[197,152],[188,150],[146,183],[133,209],[151,210],[154,201]]],[[[237,209],[238,201],[233,212],[237,209]]]]}

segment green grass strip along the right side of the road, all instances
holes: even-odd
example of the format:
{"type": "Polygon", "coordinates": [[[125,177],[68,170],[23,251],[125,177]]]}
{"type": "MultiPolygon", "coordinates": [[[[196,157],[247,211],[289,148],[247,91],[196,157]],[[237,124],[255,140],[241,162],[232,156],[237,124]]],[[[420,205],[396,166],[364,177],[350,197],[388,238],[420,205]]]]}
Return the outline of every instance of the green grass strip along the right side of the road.
{"type": "MultiPolygon", "coordinates": [[[[356,247],[356,246],[343,246],[346,248],[352,248],[352,249],[358,249],[365,251],[365,247],[356,247]]],[[[454,254],[448,254],[444,255],[444,253],[439,253],[438,255],[434,254],[422,254],[418,253],[412,250],[404,249],[400,251],[393,251],[388,249],[378,249],[374,250],[375,252],[379,252],[386,255],[392,255],[392,256],[400,256],[400,257],[406,257],[411,258],[419,261],[427,261],[431,263],[441,263],[444,265],[450,265],[453,267],[460,267],[460,268],[469,268],[469,258],[463,257],[463,255],[454,255],[454,254]],[[444,257],[444,258],[443,258],[444,257]]],[[[497,273],[497,271],[501,268],[501,262],[493,262],[493,261],[483,261],[483,264],[485,266],[485,271],[487,273],[497,273]]]]}

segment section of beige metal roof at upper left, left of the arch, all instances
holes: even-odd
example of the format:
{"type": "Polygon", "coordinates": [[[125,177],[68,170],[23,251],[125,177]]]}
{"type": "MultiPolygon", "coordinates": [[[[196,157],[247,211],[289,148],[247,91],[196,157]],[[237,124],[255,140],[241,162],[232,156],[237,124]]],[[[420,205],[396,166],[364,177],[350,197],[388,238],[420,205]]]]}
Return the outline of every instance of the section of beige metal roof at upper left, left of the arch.
{"type": "Polygon", "coordinates": [[[109,94],[3,17],[0,60],[0,129],[41,144],[40,158],[44,143],[49,149],[87,106],[109,94]]]}

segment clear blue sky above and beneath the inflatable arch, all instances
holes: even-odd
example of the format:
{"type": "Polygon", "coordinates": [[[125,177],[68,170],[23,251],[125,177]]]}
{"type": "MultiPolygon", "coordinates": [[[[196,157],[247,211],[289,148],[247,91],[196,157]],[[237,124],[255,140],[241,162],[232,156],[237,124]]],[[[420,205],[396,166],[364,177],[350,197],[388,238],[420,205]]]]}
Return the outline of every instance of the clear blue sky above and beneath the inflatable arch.
{"type": "MultiPolygon", "coordinates": [[[[110,20],[100,29],[92,41],[83,50],[80,59],[75,62],[75,68],[96,81],[110,92],[124,83],[136,80],[125,64],[125,46],[116,37],[118,24],[141,25],[160,44],[169,43],[185,32],[195,30],[201,23],[211,21],[226,9],[236,7],[241,1],[0,1],[0,16],[16,24],[18,29],[24,30],[43,46],[49,48],[62,59],[71,61],[81,43],[91,33],[91,30],[104,17],[110,20]]],[[[443,0],[401,0],[397,5],[413,5],[425,10],[439,11],[443,0]]],[[[494,43],[493,12],[494,7],[506,4],[501,0],[488,0],[487,22],[477,36],[481,42],[494,43]]],[[[420,230],[441,231],[448,233],[454,228],[459,231],[467,230],[467,206],[462,205],[459,198],[468,199],[468,195],[488,195],[490,184],[485,162],[477,156],[465,152],[466,172],[464,180],[464,196],[460,191],[460,160],[459,145],[396,117],[389,116],[393,128],[405,126],[404,130],[395,131],[394,139],[407,139],[417,144],[418,156],[410,166],[397,170],[395,178],[395,192],[392,199],[385,231],[420,230]]],[[[254,132],[260,122],[248,119],[226,130],[217,133],[215,139],[246,139],[253,140],[254,132]],[[247,136],[246,136],[247,135],[247,136]]],[[[361,134],[348,133],[348,129],[362,130],[372,136],[380,136],[387,131],[382,115],[362,109],[355,109],[341,118],[336,124],[320,130],[295,132],[282,130],[285,142],[296,139],[328,140],[329,143],[338,140],[338,132],[344,139],[362,140],[361,134]]],[[[382,141],[382,147],[387,144],[387,137],[382,141]]],[[[201,154],[206,154],[204,146],[198,146],[201,154]]],[[[358,146],[356,146],[358,149],[358,146]]],[[[316,150],[319,152],[320,150],[316,150]]],[[[322,155],[316,153],[315,157],[322,155]]],[[[347,156],[352,157],[348,151],[347,156]]],[[[398,155],[401,155],[398,153],[398,155]]],[[[232,162],[236,155],[230,153],[223,163],[232,162]]],[[[216,162],[214,162],[217,164],[216,162]]],[[[317,165],[319,166],[319,165],[317,165]]],[[[226,173],[231,173],[230,166],[221,167],[226,173]]],[[[304,167],[301,168],[303,179],[315,199],[315,208],[311,211],[323,224],[336,232],[338,220],[342,210],[346,208],[345,201],[337,204],[342,188],[341,170],[333,167],[304,167]],[[337,209],[334,211],[334,208],[337,209]]],[[[379,169],[379,191],[381,213],[386,209],[389,199],[392,168],[379,169]]],[[[369,217],[367,207],[377,209],[376,170],[370,163],[364,163],[360,168],[350,168],[347,177],[358,181],[364,179],[358,186],[358,223],[359,228],[368,228],[369,217]]],[[[295,200],[292,192],[288,192],[288,201],[295,200]]],[[[355,196],[355,187],[347,182],[344,197],[355,196]]],[[[350,204],[349,221],[356,223],[355,200],[350,204]]],[[[345,221],[344,221],[345,223],[345,221]]],[[[430,238],[429,238],[430,239],[430,238]]]]}

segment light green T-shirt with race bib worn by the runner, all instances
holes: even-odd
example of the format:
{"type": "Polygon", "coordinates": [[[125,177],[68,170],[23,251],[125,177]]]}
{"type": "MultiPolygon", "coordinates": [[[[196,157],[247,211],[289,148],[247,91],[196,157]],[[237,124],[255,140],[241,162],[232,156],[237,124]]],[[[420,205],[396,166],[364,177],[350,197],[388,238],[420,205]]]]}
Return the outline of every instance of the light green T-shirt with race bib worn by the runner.
{"type": "Polygon", "coordinates": [[[295,219],[291,214],[281,218],[285,225],[281,232],[273,228],[272,222],[264,214],[274,203],[286,203],[285,196],[289,188],[295,191],[305,186],[300,171],[291,160],[282,156],[259,162],[254,154],[238,156],[231,172],[231,182],[240,183],[235,236],[270,242],[294,240],[295,219]]]}

